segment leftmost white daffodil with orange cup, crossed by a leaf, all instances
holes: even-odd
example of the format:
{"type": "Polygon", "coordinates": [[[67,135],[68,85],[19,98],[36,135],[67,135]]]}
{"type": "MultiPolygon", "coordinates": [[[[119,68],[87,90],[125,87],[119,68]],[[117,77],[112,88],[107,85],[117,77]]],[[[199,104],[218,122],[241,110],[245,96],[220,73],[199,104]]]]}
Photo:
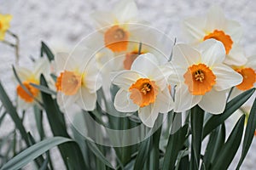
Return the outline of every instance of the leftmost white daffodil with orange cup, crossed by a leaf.
{"type": "Polygon", "coordinates": [[[45,77],[49,77],[49,60],[44,58],[38,59],[31,70],[20,66],[15,67],[15,70],[23,86],[26,87],[26,89],[24,89],[20,84],[17,85],[18,107],[26,110],[32,105],[35,105],[36,100],[41,101],[38,88],[33,87],[31,83],[40,84],[41,74],[44,74],[45,77]]]}

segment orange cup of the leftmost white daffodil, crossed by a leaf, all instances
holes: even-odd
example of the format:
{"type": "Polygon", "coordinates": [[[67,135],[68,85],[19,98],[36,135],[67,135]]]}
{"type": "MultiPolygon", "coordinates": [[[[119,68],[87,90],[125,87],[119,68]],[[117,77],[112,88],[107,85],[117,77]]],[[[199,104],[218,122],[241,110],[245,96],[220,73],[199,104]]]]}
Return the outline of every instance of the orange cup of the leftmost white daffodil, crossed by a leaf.
{"type": "Polygon", "coordinates": [[[26,90],[23,89],[20,85],[17,86],[17,94],[20,96],[21,99],[24,99],[26,102],[31,103],[35,97],[38,96],[39,90],[38,88],[32,87],[29,83],[38,84],[36,81],[30,81],[30,82],[22,82],[22,84],[26,87],[26,89],[29,91],[30,94],[26,93],[26,90]]]}

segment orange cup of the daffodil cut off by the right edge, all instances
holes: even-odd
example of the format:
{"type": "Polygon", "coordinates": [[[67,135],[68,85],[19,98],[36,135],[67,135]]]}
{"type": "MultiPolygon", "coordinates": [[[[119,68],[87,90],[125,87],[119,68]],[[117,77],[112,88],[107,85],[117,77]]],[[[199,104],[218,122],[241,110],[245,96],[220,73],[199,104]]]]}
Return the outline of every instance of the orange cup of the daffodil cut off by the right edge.
{"type": "Polygon", "coordinates": [[[236,71],[242,76],[242,82],[236,88],[240,90],[253,88],[253,84],[256,82],[256,72],[252,68],[241,68],[236,71]]]}

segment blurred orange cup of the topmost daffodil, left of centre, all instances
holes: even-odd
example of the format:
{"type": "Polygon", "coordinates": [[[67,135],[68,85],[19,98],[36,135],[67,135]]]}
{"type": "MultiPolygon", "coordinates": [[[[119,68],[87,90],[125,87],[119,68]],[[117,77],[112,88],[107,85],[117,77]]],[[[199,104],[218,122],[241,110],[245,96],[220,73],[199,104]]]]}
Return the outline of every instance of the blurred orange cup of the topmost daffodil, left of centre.
{"type": "Polygon", "coordinates": [[[119,26],[112,26],[105,32],[105,46],[113,52],[125,51],[128,46],[128,31],[125,31],[119,26]]]}

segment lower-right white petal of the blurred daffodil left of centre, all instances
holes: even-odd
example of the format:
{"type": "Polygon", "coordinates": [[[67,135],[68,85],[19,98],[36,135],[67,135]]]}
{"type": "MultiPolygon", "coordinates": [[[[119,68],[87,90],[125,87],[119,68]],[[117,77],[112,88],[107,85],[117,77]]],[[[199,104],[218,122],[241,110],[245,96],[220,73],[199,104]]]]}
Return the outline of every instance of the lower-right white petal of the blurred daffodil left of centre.
{"type": "Polygon", "coordinates": [[[96,93],[90,93],[87,88],[80,88],[77,104],[84,111],[93,111],[96,107],[96,93]]]}

